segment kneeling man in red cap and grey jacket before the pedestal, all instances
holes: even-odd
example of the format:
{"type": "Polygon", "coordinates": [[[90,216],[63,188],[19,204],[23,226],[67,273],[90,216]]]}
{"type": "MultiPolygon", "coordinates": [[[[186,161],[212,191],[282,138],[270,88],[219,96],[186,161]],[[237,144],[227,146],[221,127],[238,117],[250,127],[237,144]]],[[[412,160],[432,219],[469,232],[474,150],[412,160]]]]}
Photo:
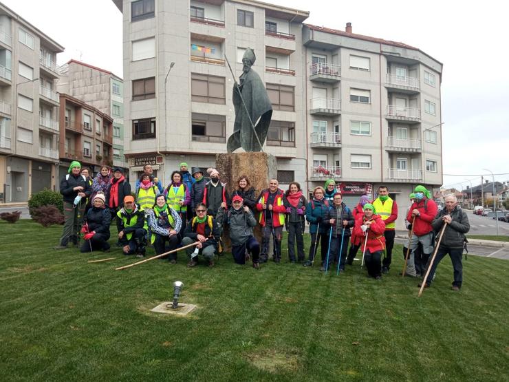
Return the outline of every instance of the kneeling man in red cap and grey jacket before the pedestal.
{"type": "MultiPolygon", "coordinates": [[[[246,264],[246,249],[252,257],[252,266],[259,268],[260,244],[252,234],[257,220],[248,206],[243,206],[243,199],[239,195],[232,198],[232,207],[226,213],[230,226],[230,239],[232,240],[232,255],[235,263],[246,264]]],[[[224,218],[225,209],[217,212],[217,220],[224,218]]]]}

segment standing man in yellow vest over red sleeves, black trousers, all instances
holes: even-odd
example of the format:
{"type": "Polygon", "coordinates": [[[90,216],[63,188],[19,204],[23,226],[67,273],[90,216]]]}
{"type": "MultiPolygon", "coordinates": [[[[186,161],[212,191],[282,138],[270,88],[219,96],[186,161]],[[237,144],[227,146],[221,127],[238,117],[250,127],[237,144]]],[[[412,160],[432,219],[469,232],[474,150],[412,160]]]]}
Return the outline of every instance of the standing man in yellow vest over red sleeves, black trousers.
{"type": "Polygon", "coordinates": [[[396,219],[398,219],[398,204],[389,196],[387,186],[378,187],[378,198],[373,200],[373,206],[376,213],[382,217],[385,223],[385,257],[382,261],[382,273],[389,273],[392,261],[392,248],[394,246],[394,237],[396,237],[396,219]]]}

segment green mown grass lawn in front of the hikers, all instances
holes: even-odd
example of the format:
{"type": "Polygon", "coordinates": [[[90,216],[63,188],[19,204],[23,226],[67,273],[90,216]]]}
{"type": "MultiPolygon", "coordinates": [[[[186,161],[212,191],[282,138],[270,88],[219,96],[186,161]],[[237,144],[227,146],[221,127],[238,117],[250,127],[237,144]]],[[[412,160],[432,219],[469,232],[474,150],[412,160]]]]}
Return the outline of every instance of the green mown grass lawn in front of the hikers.
{"type": "Polygon", "coordinates": [[[0,222],[4,381],[508,379],[506,260],[469,256],[457,293],[444,259],[418,299],[418,280],[396,275],[398,245],[391,273],[377,281],[360,262],[336,277],[318,264],[270,262],[257,271],[230,255],[212,269],[186,268],[180,255],[177,265],[116,271],[135,259],[116,247],[106,255],[54,251],[60,234],[61,226],[0,222]],[[181,302],[197,310],[150,312],[171,300],[177,279],[181,302]]]}

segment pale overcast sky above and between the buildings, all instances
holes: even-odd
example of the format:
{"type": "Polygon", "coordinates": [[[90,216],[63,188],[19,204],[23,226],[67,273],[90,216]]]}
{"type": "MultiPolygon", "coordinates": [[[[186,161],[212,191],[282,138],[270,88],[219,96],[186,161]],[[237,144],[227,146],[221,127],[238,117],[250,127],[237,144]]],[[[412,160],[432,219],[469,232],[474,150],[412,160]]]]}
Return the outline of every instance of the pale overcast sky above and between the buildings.
{"type": "MultiPolygon", "coordinates": [[[[122,76],[122,15],[109,0],[0,0],[65,47],[58,64],[78,59],[122,76]]],[[[444,64],[444,174],[509,173],[507,13],[499,1],[266,1],[310,11],[305,21],[401,41],[444,64]]],[[[444,175],[459,188],[465,178],[444,175]]],[[[496,176],[509,180],[509,175],[496,176]]],[[[491,179],[491,177],[490,177],[491,179]]]]}

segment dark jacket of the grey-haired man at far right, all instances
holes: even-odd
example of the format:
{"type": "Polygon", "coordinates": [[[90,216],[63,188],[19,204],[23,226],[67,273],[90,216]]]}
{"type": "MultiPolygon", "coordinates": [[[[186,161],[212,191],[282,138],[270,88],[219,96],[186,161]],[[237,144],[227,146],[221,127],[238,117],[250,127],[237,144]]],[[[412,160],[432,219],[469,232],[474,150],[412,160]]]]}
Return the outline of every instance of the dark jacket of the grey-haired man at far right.
{"type": "MultiPolygon", "coordinates": [[[[444,225],[442,217],[447,214],[448,212],[446,209],[442,209],[439,213],[437,213],[435,220],[431,223],[435,232],[439,232],[442,229],[442,226],[444,225]]],[[[466,241],[465,233],[470,231],[468,216],[465,211],[459,208],[459,206],[455,206],[451,212],[451,217],[453,218],[453,221],[446,227],[440,245],[448,248],[463,248],[464,242],[466,241]]]]}

